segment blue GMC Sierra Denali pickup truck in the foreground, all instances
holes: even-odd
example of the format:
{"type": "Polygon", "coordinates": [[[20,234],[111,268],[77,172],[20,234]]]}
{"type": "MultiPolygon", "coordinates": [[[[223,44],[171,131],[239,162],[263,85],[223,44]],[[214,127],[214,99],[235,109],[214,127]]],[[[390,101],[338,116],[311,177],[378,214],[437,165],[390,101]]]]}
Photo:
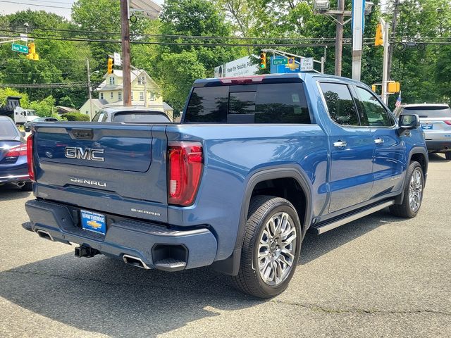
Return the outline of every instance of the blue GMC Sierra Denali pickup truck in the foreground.
{"type": "Polygon", "coordinates": [[[310,73],[197,80],[181,123],[37,123],[28,147],[26,230],[79,257],[211,265],[260,298],[288,287],[307,231],[414,217],[428,169],[417,115],[310,73]]]}

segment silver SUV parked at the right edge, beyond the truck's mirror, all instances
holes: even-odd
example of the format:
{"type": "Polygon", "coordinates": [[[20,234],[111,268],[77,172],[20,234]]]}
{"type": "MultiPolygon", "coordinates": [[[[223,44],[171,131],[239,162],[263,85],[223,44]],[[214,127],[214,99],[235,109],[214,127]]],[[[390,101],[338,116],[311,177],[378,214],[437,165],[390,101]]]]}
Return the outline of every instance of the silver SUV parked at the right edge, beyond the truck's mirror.
{"type": "Polygon", "coordinates": [[[402,114],[419,115],[421,128],[430,153],[444,153],[451,160],[451,109],[447,104],[404,104],[395,108],[402,114]]]}

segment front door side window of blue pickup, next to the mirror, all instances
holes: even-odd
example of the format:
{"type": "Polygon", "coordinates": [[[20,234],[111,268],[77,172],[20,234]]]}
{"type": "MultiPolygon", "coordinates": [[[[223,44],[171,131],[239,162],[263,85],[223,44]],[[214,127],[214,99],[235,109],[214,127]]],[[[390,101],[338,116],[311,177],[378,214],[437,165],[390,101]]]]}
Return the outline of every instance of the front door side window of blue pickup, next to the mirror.
{"type": "Polygon", "coordinates": [[[364,120],[362,125],[370,125],[374,127],[390,127],[393,120],[388,115],[388,111],[378,101],[376,96],[366,89],[355,87],[357,92],[357,102],[362,110],[364,120]]]}

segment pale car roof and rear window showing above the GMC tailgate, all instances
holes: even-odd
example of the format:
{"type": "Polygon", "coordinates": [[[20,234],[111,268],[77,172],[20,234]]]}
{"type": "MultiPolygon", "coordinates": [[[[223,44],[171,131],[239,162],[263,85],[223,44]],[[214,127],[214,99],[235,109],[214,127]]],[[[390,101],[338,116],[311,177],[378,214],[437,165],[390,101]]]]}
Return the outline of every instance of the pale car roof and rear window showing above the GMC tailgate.
{"type": "Polygon", "coordinates": [[[163,111],[144,107],[114,107],[99,111],[92,122],[171,123],[163,111]]]}

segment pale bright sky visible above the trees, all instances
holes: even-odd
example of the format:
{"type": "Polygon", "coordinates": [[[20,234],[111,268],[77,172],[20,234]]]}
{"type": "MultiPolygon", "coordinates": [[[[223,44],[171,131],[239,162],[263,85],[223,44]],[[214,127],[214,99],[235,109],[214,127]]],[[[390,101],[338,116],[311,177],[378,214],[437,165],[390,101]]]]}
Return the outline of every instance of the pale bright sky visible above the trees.
{"type": "MultiPolygon", "coordinates": [[[[153,0],[156,4],[163,4],[164,0],[153,0]]],[[[30,8],[34,11],[56,13],[70,20],[70,8],[75,0],[0,0],[0,14],[11,14],[30,8]]]]}

